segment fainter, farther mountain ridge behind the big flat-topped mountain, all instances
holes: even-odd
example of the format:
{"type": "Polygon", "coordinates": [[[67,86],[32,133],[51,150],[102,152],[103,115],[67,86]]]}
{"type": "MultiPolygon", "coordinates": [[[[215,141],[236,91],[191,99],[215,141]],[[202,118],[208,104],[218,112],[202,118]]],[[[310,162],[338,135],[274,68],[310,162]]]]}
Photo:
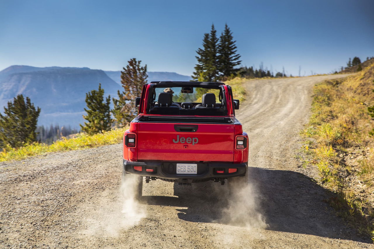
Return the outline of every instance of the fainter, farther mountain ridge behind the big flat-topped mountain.
{"type": "MultiPolygon", "coordinates": [[[[110,79],[121,84],[121,71],[104,71],[110,79]]],[[[147,82],[152,81],[190,81],[190,76],[170,72],[147,72],[147,82]]]]}

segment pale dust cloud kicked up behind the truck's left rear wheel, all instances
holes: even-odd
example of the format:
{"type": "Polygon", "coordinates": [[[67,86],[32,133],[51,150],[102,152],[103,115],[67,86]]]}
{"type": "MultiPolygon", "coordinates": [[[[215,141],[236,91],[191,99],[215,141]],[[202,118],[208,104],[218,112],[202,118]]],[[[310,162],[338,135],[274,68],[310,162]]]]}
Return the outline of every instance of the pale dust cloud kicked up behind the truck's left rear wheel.
{"type": "Polygon", "coordinates": [[[103,197],[88,220],[88,229],[84,234],[117,236],[120,230],[128,229],[137,225],[142,218],[146,217],[145,207],[136,196],[136,186],[139,177],[126,175],[118,191],[117,200],[108,200],[103,197]]]}

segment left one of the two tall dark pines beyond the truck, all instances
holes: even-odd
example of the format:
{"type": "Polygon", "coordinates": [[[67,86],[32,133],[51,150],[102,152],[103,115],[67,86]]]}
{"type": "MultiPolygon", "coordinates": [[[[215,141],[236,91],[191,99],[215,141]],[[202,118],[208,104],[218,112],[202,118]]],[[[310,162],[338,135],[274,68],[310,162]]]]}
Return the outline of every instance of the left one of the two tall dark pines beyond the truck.
{"type": "Polygon", "coordinates": [[[219,80],[218,73],[218,38],[217,31],[212,24],[210,34],[205,33],[203,38],[203,48],[196,50],[198,56],[197,64],[192,78],[203,82],[213,82],[219,80]]]}

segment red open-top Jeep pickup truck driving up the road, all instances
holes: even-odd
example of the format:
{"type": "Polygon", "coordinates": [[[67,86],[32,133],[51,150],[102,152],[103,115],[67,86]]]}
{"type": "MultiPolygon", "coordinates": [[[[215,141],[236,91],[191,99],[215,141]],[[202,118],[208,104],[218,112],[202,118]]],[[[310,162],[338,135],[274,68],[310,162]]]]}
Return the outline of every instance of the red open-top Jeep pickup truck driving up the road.
{"type": "Polygon", "coordinates": [[[151,82],[123,136],[123,180],[191,185],[246,182],[248,135],[235,118],[239,100],[218,82],[151,82]],[[132,176],[135,175],[135,176],[132,176]]]}

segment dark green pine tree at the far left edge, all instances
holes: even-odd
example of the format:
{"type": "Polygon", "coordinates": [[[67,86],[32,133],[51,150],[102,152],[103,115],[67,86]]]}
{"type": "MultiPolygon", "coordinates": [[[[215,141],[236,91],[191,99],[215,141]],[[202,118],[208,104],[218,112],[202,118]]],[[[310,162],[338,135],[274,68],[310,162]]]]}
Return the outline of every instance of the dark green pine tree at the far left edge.
{"type": "Polygon", "coordinates": [[[4,115],[0,113],[0,146],[4,148],[9,144],[13,148],[24,143],[36,141],[36,125],[40,108],[35,109],[30,98],[26,102],[22,94],[17,95],[4,107],[4,115]]]}

